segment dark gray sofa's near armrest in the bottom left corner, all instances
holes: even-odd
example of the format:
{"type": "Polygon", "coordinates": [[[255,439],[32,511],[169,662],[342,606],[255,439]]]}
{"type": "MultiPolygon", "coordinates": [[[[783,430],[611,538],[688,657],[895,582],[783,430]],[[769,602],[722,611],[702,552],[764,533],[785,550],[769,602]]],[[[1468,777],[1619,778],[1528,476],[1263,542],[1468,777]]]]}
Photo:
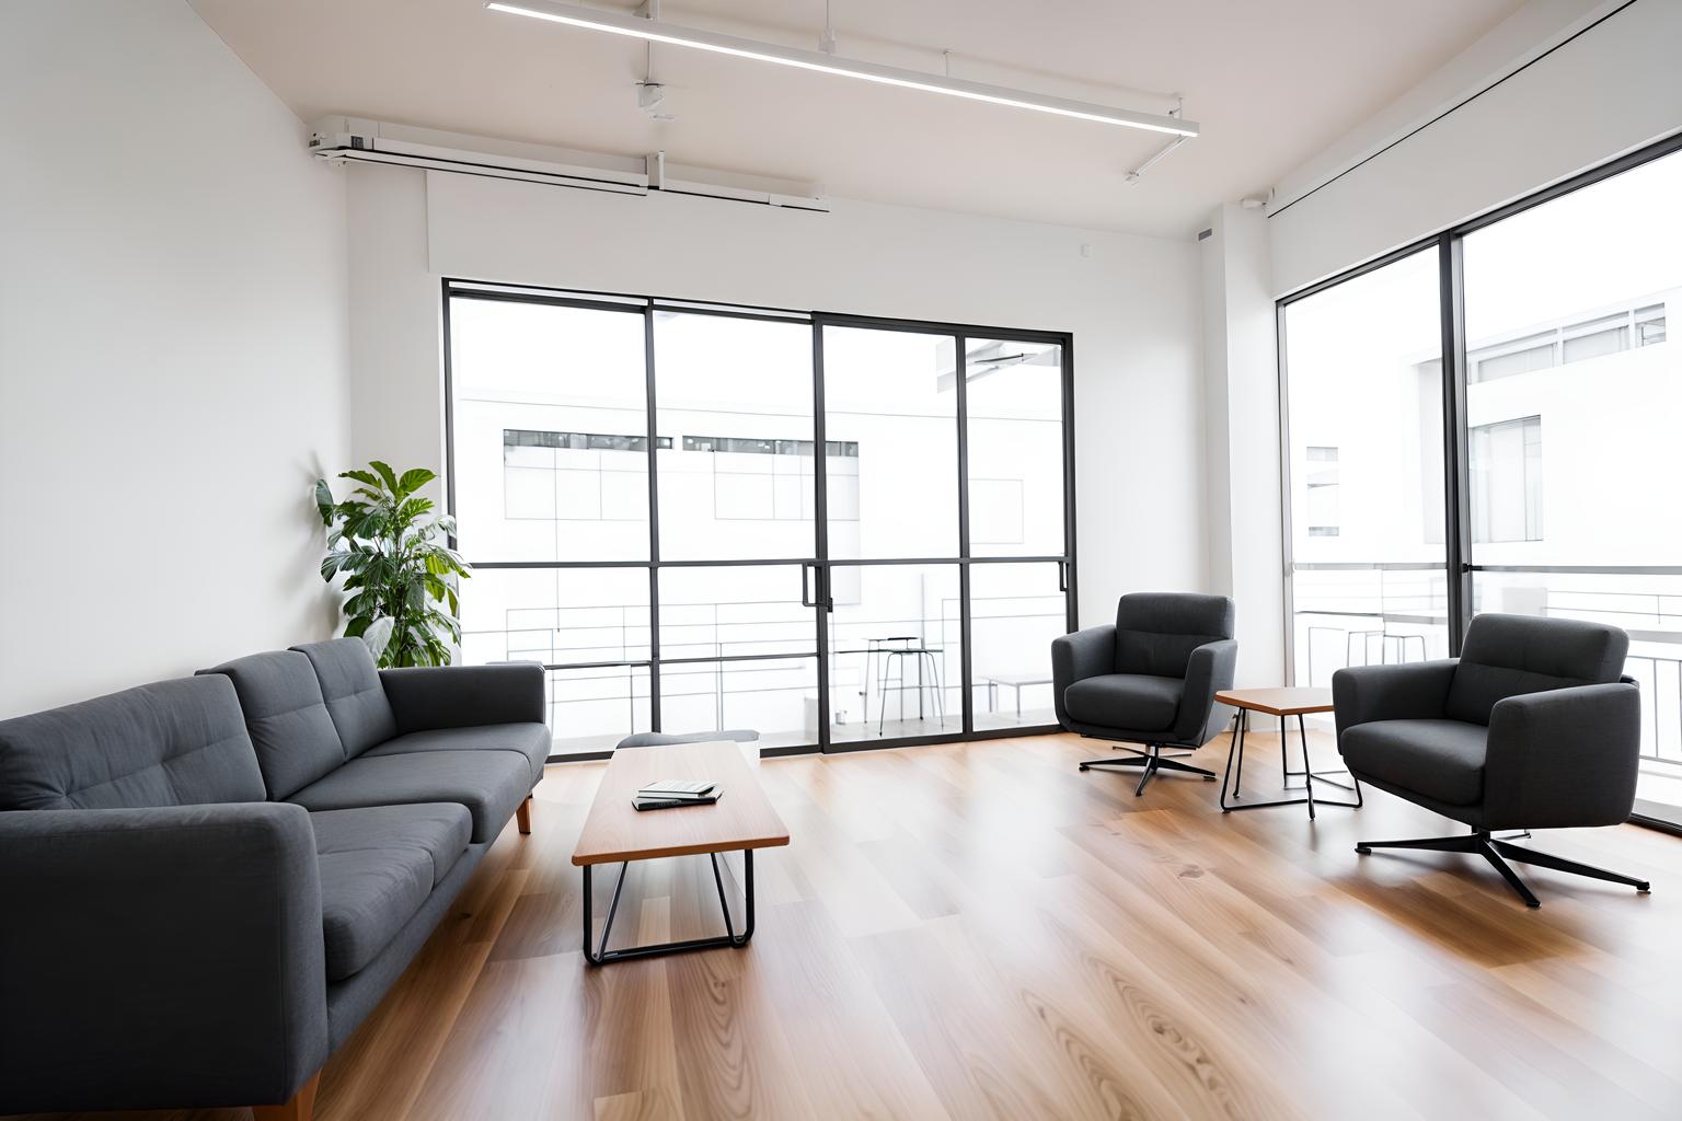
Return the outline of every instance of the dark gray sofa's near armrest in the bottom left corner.
{"type": "Polygon", "coordinates": [[[0,1111],[276,1103],[326,1062],[303,807],[3,812],[0,899],[0,1111]]]}

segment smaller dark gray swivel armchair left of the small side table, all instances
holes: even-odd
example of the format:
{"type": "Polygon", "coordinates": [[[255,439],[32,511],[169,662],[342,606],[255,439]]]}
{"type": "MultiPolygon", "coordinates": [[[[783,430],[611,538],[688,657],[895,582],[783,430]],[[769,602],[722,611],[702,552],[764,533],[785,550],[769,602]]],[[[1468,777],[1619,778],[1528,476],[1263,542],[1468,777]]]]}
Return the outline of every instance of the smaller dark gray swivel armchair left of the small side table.
{"type": "Polygon", "coordinates": [[[1144,745],[1093,766],[1140,768],[1135,795],[1159,771],[1214,771],[1164,756],[1162,748],[1201,748],[1231,718],[1214,694],[1233,687],[1236,610],[1224,595],[1135,592],[1115,608],[1115,625],[1090,627],[1051,642],[1051,696],[1063,728],[1083,736],[1144,745]]]}

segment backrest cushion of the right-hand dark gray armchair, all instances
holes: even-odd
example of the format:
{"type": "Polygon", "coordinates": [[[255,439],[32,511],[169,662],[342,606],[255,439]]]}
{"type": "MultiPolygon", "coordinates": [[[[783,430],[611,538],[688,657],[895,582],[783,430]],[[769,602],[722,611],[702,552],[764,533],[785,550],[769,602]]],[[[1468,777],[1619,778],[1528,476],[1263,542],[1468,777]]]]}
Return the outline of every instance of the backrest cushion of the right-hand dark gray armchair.
{"type": "Polygon", "coordinates": [[[1630,635],[1618,627],[1539,615],[1477,615],[1448,684],[1448,719],[1489,724],[1497,701],[1618,681],[1630,635]]]}

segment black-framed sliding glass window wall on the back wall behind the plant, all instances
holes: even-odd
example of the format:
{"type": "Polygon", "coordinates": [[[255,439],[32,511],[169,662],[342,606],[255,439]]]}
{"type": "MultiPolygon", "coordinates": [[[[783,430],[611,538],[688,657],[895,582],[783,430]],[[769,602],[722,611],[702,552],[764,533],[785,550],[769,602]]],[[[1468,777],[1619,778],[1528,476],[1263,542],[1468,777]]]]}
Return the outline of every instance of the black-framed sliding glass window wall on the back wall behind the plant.
{"type": "Polygon", "coordinates": [[[446,284],[468,662],[560,756],[1055,724],[1066,336],[446,284]]]}

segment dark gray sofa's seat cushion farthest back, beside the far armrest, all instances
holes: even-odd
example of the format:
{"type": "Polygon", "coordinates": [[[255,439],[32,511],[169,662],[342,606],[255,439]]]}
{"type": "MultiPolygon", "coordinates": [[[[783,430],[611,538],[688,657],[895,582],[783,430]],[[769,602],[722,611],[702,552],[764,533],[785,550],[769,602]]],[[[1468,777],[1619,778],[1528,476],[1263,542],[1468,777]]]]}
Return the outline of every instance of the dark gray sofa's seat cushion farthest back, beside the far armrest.
{"type": "Polygon", "coordinates": [[[306,810],[454,802],[473,815],[473,842],[496,839],[533,787],[513,751],[410,751],[358,756],[293,793],[306,810]]]}

